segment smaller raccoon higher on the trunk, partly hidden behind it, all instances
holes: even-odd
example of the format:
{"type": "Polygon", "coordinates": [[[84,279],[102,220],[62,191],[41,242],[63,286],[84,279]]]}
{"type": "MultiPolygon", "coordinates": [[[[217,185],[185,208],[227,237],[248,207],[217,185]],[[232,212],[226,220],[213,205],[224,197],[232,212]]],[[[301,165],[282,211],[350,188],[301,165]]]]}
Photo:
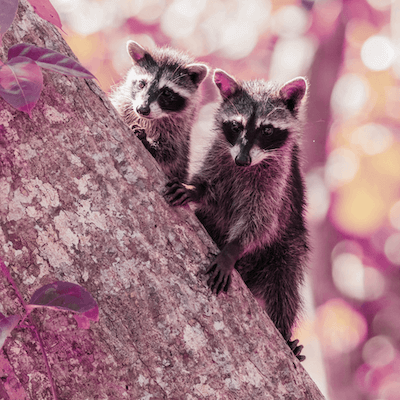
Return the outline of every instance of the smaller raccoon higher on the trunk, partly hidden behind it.
{"type": "Polygon", "coordinates": [[[191,126],[201,100],[198,88],[208,67],[171,48],[150,52],[128,41],[127,51],[133,66],[111,102],[166,175],[184,179],[191,126]]]}

